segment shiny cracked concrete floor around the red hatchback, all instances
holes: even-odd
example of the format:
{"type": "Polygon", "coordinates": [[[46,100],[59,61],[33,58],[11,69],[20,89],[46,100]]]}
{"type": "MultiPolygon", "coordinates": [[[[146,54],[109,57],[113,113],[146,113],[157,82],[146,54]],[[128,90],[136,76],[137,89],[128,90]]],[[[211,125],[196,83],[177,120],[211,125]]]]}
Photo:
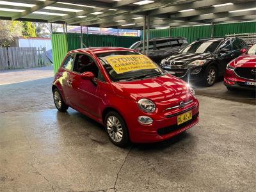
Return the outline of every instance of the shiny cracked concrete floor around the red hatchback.
{"type": "Polygon", "coordinates": [[[198,95],[200,123],[122,149],[73,109],[52,77],[0,86],[0,191],[255,191],[255,105],[198,95]]]}

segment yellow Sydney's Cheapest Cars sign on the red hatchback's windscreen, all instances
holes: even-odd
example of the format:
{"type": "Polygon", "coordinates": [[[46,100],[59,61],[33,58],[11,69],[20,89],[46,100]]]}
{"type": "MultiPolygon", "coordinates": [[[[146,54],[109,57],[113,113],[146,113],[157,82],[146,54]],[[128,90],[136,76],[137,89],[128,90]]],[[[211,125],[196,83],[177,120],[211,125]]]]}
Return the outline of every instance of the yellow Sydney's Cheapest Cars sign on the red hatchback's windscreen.
{"type": "Polygon", "coordinates": [[[153,61],[143,54],[108,56],[106,61],[108,61],[117,74],[132,70],[157,68],[153,61]]]}

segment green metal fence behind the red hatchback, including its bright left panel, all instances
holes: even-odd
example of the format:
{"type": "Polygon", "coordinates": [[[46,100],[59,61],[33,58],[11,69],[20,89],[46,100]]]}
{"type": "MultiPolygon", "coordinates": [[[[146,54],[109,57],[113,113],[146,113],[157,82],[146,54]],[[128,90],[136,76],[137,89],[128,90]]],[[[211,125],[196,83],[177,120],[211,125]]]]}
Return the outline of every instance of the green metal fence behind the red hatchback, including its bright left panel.
{"type": "MultiPolygon", "coordinates": [[[[137,36],[83,34],[83,44],[86,45],[86,47],[130,47],[139,40],[140,37],[137,36]]],[[[79,48],[81,48],[80,34],[52,34],[52,58],[54,63],[54,74],[60,67],[61,62],[67,52],[79,48]]]]}

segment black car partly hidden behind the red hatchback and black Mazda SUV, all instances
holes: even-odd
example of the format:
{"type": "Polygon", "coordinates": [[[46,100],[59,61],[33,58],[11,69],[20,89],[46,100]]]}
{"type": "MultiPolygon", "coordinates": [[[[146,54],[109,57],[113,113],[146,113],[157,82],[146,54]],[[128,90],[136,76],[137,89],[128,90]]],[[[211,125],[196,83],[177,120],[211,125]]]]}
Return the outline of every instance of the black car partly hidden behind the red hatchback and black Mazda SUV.
{"type": "MultiPolygon", "coordinates": [[[[149,40],[148,57],[151,60],[155,61],[157,64],[160,64],[161,60],[179,52],[180,49],[186,47],[186,45],[188,45],[188,41],[186,40],[186,38],[182,38],[179,36],[152,38],[149,40]]],[[[142,52],[142,41],[136,42],[135,44],[131,45],[130,49],[136,49],[137,51],[142,52]]]]}

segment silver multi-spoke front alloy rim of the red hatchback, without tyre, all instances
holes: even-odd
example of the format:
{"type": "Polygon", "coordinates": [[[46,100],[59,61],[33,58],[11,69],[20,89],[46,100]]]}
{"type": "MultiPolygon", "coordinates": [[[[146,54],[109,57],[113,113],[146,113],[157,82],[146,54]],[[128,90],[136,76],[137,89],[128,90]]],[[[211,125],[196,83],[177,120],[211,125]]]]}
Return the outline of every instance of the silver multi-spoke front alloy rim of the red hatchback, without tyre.
{"type": "Polygon", "coordinates": [[[116,116],[109,116],[107,120],[107,130],[111,140],[120,142],[123,138],[123,129],[116,116]]]}

